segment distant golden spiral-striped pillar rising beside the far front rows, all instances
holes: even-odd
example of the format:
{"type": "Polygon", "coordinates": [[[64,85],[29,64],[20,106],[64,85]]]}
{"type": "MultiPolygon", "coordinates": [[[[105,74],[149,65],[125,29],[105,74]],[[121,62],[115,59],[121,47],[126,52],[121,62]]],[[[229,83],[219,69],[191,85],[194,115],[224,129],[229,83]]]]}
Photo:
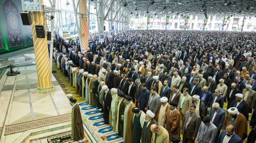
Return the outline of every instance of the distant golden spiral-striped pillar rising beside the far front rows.
{"type": "Polygon", "coordinates": [[[80,27],[80,41],[81,41],[81,49],[88,50],[88,25],[87,25],[87,1],[80,0],[79,1],[79,13],[81,14],[81,27],[80,27]]]}

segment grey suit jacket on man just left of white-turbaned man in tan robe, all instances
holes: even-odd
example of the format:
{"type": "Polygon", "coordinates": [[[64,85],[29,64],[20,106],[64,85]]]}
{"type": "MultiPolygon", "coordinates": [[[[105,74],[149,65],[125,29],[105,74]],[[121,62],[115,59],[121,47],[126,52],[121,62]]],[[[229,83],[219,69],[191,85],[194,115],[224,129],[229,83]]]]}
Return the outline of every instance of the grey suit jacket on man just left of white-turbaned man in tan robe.
{"type": "Polygon", "coordinates": [[[150,97],[148,99],[148,106],[147,107],[150,111],[152,111],[156,115],[157,111],[158,111],[158,108],[161,105],[160,104],[160,96],[157,93],[155,93],[152,100],[150,101],[151,96],[152,96],[152,94],[150,94],[150,97]]]}

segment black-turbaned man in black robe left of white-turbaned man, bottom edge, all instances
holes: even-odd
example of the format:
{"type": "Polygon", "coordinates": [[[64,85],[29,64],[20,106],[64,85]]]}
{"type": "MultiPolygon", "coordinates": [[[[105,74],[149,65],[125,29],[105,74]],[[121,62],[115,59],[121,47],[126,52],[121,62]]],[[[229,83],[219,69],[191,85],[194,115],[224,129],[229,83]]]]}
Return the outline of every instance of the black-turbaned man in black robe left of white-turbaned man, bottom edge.
{"type": "Polygon", "coordinates": [[[133,143],[140,143],[141,131],[145,123],[145,113],[141,111],[140,107],[132,109],[133,115],[133,143]]]}

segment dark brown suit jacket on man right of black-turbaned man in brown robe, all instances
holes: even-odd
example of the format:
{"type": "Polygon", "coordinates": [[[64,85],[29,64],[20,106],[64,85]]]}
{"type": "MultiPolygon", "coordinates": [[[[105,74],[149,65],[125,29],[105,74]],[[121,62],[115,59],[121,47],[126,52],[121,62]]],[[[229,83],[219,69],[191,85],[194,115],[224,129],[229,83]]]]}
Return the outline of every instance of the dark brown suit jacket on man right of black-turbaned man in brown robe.
{"type": "Polygon", "coordinates": [[[185,126],[187,123],[187,120],[189,118],[189,111],[186,111],[183,122],[182,122],[182,134],[183,137],[185,135],[186,138],[196,138],[198,129],[201,125],[201,118],[197,115],[197,113],[194,112],[192,118],[190,119],[189,124],[187,125],[187,129],[185,130],[185,126]]]}

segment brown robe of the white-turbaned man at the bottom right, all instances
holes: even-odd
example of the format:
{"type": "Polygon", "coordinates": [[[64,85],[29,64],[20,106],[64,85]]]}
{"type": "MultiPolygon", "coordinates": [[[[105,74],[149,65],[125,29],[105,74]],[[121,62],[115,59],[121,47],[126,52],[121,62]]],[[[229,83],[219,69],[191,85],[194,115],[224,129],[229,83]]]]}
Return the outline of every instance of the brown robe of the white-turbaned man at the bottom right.
{"type": "Polygon", "coordinates": [[[232,116],[228,113],[223,122],[222,130],[225,130],[226,126],[229,124],[234,126],[234,133],[236,133],[243,141],[247,138],[247,120],[242,113],[239,113],[233,120],[232,116]]]}

